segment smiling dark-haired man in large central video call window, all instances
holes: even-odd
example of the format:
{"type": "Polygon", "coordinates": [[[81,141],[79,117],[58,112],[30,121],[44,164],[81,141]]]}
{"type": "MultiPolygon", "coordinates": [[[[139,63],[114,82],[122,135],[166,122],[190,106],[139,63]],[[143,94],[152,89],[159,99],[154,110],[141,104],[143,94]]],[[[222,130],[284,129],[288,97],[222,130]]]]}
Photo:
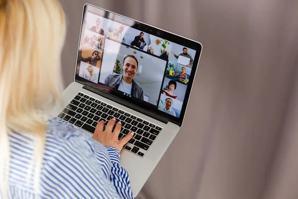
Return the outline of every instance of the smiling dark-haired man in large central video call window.
{"type": "Polygon", "coordinates": [[[144,100],[143,89],[133,79],[137,74],[138,64],[135,56],[125,56],[122,63],[124,74],[110,74],[105,78],[104,84],[135,98],[144,100]]]}

